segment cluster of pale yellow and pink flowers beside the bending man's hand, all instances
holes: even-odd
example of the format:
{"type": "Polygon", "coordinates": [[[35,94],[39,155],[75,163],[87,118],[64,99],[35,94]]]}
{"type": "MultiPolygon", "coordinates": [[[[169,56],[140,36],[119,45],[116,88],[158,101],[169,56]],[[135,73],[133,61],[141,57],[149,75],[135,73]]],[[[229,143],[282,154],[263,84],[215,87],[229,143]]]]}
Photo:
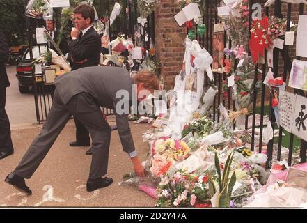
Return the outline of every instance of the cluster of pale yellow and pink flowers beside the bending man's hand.
{"type": "Polygon", "coordinates": [[[152,146],[152,167],[150,172],[156,176],[164,176],[173,162],[181,162],[189,157],[190,148],[182,140],[168,137],[157,139],[152,146]]]}

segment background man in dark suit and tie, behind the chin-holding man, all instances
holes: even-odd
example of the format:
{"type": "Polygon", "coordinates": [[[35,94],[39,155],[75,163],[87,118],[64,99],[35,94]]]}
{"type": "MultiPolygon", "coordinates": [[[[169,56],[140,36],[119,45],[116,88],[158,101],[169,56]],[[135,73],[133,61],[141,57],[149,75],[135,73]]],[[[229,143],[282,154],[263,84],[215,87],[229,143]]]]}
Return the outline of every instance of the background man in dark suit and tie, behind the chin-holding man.
{"type": "MultiPolygon", "coordinates": [[[[59,35],[59,31],[58,29],[56,29],[56,20],[55,18],[53,18],[53,20],[46,20],[46,29],[49,32],[49,35],[52,37],[52,39],[54,40],[54,42],[58,43],[58,35],[59,35]]],[[[56,48],[54,47],[54,45],[52,45],[52,43],[50,43],[50,41],[48,40],[48,47],[50,49],[53,49],[58,55],[60,55],[60,53],[56,50],[56,48]]],[[[65,40],[65,38],[62,38],[60,45],[58,46],[60,47],[62,53],[65,55],[68,53],[68,43],[67,40],[65,40]]]]}

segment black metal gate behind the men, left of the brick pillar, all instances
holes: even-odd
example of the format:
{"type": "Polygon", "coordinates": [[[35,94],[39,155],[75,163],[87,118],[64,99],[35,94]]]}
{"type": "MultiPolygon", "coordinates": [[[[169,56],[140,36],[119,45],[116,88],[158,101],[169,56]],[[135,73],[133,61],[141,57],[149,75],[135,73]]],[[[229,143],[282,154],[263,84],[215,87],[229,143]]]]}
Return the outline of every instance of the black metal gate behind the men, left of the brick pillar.
{"type": "MultiPolygon", "coordinates": [[[[26,7],[29,0],[24,0],[24,6],[26,7]]],[[[107,1],[107,9],[104,10],[102,7],[103,1],[100,0],[100,17],[102,18],[102,12],[105,11],[107,13],[108,20],[111,15],[111,10],[113,8],[113,4],[116,1],[108,0],[107,1]]],[[[119,2],[119,1],[118,1],[119,2]]],[[[98,1],[94,1],[94,3],[98,3],[98,1]]],[[[136,0],[123,0],[121,1],[123,9],[120,13],[120,18],[122,19],[122,22],[119,23],[120,29],[109,29],[109,36],[110,41],[117,38],[119,34],[123,34],[125,38],[132,38],[133,43],[135,43],[134,33],[135,29],[141,24],[138,23],[138,17],[140,15],[138,8],[137,8],[137,1],[136,0]]],[[[35,28],[42,26],[42,21],[38,22],[36,19],[31,19],[29,17],[26,18],[26,29],[28,33],[28,40],[29,40],[29,47],[31,49],[31,46],[33,46],[33,35],[32,33],[35,33],[35,28]]],[[[152,40],[153,43],[155,43],[155,15],[152,13],[152,15],[147,17],[147,23],[141,29],[143,29],[143,34],[141,36],[142,39],[142,45],[145,50],[150,49],[150,41],[148,41],[148,38],[152,40]],[[147,36],[147,37],[146,37],[147,36]]],[[[110,22],[110,20],[109,20],[110,22]]],[[[33,53],[30,50],[30,58],[33,59],[33,53]]],[[[142,62],[143,60],[141,60],[142,62]]],[[[110,66],[116,66],[114,64],[110,64],[110,66]]],[[[137,61],[134,61],[134,67],[129,68],[129,66],[125,66],[129,71],[131,70],[139,70],[139,63],[137,61]]],[[[52,95],[54,93],[54,85],[47,85],[45,84],[44,80],[44,74],[35,74],[34,70],[32,70],[32,76],[33,76],[33,95],[34,95],[34,101],[36,106],[36,118],[38,123],[46,121],[47,114],[49,113],[49,110],[52,106],[52,95]]],[[[102,108],[104,114],[106,115],[112,115],[113,110],[102,108]]]]}

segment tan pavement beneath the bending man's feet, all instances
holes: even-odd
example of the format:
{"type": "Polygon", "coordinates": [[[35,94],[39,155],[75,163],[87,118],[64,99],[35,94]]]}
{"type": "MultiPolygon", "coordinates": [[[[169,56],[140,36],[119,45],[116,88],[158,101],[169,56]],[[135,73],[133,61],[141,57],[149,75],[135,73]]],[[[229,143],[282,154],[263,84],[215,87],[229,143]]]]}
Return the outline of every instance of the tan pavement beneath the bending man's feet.
{"type": "MultiPolygon", "coordinates": [[[[112,117],[108,117],[111,124],[112,117]]],[[[148,124],[131,123],[134,144],[141,160],[145,160],[148,145],[143,142],[142,132],[150,128],[148,124]]],[[[132,162],[123,152],[117,130],[112,132],[109,153],[108,177],[113,178],[111,186],[86,192],[86,181],[90,169],[91,156],[86,156],[88,148],[74,148],[68,145],[74,140],[74,122],[70,121],[61,132],[54,146],[42,161],[32,178],[26,180],[32,195],[26,196],[4,182],[13,171],[42,125],[19,126],[12,131],[15,153],[0,160],[0,206],[53,206],[53,207],[154,207],[155,200],[145,192],[132,186],[118,185],[123,174],[133,172],[132,162]]]]}

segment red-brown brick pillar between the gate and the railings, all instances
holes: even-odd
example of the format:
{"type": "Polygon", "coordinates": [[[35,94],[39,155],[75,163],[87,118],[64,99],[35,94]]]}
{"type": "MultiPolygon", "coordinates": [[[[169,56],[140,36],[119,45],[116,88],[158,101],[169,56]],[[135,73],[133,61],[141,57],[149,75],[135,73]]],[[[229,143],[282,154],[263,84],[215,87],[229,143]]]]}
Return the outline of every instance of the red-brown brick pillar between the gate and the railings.
{"type": "Polygon", "coordinates": [[[179,12],[178,0],[160,0],[155,10],[157,59],[161,61],[164,89],[173,89],[184,58],[187,29],[180,27],[174,18],[179,12]]]}

